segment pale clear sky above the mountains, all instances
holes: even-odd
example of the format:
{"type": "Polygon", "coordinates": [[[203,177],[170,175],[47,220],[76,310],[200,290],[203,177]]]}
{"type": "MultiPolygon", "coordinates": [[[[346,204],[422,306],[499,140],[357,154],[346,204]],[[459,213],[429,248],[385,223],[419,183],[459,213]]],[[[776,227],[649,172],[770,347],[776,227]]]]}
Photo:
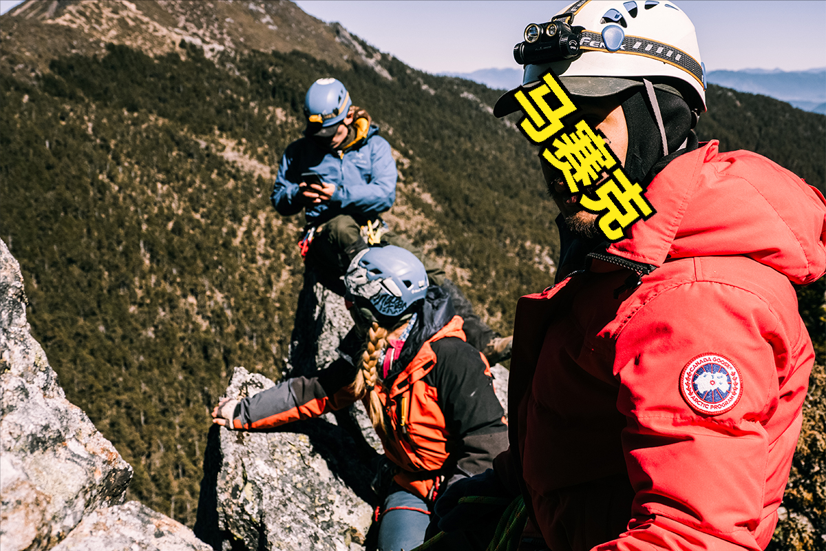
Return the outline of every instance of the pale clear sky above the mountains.
{"type": "MultiPolygon", "coordinates": [[[[17,0],[0,0],[6,12],[17,0]]],[[[525,25],[570,2],[510,0],[298,0],[322,21],[430,73],[512,68],[525,25]]],[[[709,70],[826,67],[826,0],[676,0],[697,28],[709,70]]]]}

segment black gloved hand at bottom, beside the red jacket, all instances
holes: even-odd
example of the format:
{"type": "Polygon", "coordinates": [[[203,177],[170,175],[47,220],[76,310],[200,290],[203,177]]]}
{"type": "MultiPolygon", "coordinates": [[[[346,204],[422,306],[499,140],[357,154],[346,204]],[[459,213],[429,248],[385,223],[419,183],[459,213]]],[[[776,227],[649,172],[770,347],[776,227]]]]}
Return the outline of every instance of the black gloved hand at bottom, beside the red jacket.
{"type": "Polygon", "coordinates": [[[490,523],[496,526],[513,498],[489,468],[484,473],[453,482],[436,500],[433,512],[439,519],[439,530],[474,530],[490,523]],[[472,499],[459,503],[463,497],[472,499]]]}

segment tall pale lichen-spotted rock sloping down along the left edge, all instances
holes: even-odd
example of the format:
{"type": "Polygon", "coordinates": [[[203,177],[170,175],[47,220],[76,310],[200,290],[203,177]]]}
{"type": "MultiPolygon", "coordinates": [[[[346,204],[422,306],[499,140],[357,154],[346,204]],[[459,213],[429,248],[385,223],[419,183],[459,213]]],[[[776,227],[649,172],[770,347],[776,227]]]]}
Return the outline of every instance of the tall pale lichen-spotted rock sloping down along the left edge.
{"type": "Polygon", "coordinates": [[[59,387],[26,323],[17,260],[0,241],[0,547],[49,549],[88,511],[123,501],[132,468],[59,387]]]}

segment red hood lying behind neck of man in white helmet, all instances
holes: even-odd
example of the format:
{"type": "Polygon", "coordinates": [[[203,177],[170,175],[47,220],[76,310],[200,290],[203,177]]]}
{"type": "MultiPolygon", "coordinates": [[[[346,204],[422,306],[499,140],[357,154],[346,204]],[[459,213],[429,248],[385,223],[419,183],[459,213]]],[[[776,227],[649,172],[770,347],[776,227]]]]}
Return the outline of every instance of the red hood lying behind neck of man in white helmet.
{"type": "Polygon", "coordinates": [[[657,211],[606,250],[660,267],[668,259],[743,255],[812,283],[826,272],[826,200],[801,178],[717,140],[674,159],[646,191],[657,211]]]}

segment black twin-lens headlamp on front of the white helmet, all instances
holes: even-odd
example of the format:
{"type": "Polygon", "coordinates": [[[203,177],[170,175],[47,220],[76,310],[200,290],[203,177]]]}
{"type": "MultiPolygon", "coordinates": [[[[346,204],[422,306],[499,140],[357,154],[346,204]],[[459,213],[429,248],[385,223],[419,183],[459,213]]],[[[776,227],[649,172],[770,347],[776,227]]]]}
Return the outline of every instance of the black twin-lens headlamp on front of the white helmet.
{"type": "Polygon", "coordinates": [[[577,57],[582,31],[584,27],[572,27],[563,21],[531,23],[525,27],[525,41],[514,46],[514,59],[520,65],[528,65],[577,57]]]}

